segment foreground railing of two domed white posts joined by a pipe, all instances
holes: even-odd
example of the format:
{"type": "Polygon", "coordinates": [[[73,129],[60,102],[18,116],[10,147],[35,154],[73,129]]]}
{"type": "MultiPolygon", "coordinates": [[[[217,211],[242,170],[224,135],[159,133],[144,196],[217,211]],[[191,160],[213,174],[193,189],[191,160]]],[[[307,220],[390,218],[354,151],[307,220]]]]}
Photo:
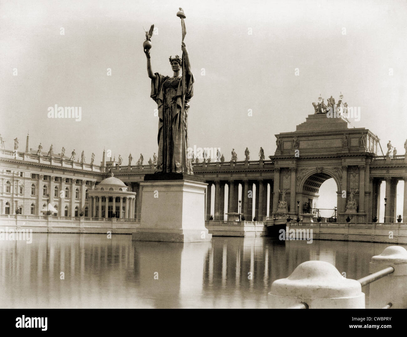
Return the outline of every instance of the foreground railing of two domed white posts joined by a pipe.
{"type": "Polygon", "coordinates": [[[370,275],[347,279],[328,262],[301,263],[288,278],[271,284],[269,308],[365,309],[362,286],[370,284],[369,308],[407,308],[407,251],[390,246],[373,256],[370,275]]]}

